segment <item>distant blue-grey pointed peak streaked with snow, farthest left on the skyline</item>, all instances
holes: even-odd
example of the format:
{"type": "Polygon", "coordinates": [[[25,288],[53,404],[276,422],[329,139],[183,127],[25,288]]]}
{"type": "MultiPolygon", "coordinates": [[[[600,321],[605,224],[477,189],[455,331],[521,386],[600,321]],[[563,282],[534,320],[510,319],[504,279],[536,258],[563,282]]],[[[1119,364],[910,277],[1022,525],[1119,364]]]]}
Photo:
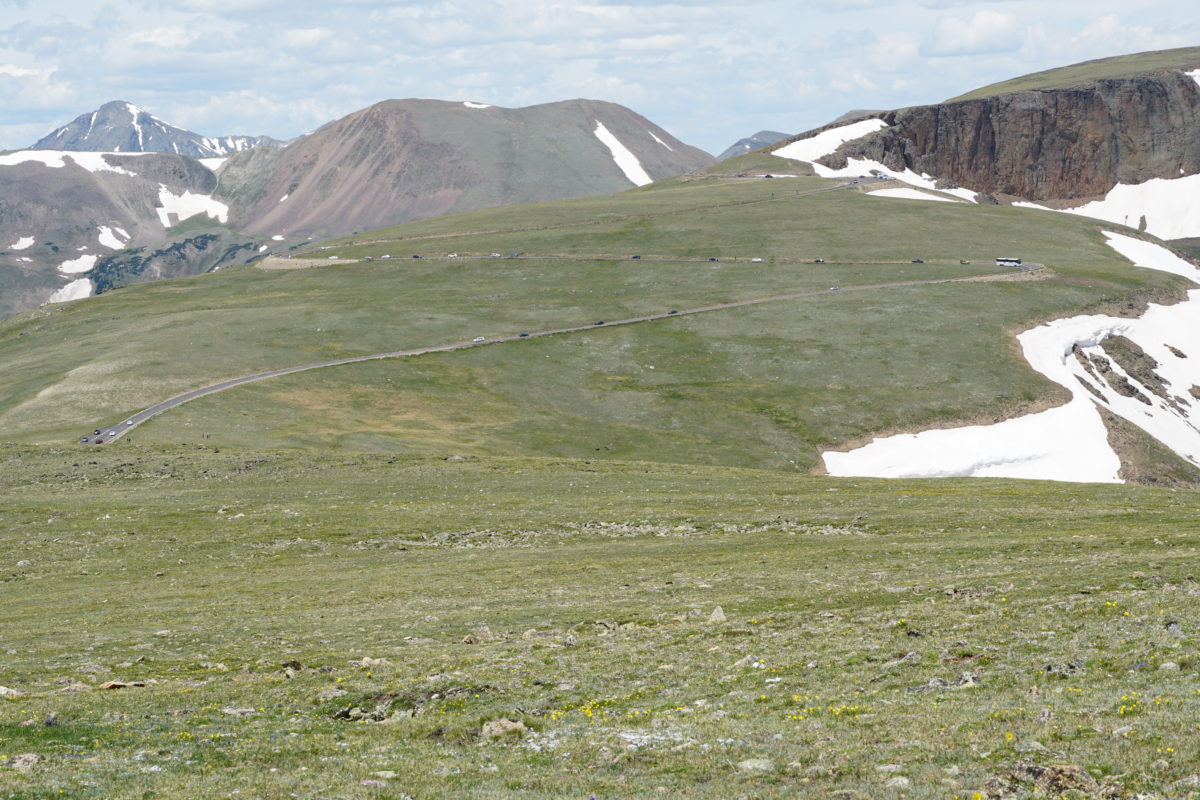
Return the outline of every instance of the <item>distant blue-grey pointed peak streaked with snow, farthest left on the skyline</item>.
{"type": "Polygon", "coordinates": [[[251,148],[277,148],[271,137],[205,137],[160,120],[133,103],[114,100],[95,112],[80,114],[38,139],[32,150],[92,152],[173,152],[192,158],[228,156],[251,148]]]}

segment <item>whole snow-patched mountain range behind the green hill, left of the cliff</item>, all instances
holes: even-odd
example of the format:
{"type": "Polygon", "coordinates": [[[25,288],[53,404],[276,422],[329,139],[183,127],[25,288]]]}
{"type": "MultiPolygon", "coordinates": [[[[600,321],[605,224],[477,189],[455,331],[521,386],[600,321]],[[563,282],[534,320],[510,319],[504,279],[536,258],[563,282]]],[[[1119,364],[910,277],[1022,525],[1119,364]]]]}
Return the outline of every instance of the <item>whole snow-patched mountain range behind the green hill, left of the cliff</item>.
{"type": "Polygon", "coordinates": [[[0,315],[311,237],[617,192],[712,162],[588,100],[386,101],[287,145],[205,138],[106,103],[34,149],[0,154],[0,315]]]}

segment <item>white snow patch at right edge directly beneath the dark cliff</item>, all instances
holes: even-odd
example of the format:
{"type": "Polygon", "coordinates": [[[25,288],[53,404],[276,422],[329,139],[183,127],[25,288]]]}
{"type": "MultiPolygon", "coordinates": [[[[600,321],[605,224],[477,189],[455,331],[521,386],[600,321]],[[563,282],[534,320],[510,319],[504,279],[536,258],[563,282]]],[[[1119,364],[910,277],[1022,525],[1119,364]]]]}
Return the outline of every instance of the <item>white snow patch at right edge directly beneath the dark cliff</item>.
{"type": "Polygon", "coordinates": [[[1117,184],[1103,200],[1093,200],[1074,209],[1049,209],[1025,201],[1013,205],[1078,213],[1129,228],[1138,228],[1145,216],[1146,230],[1159,239],[1200,236],[1200,175],[1152,178],[1145,184],[1117,184]]]}

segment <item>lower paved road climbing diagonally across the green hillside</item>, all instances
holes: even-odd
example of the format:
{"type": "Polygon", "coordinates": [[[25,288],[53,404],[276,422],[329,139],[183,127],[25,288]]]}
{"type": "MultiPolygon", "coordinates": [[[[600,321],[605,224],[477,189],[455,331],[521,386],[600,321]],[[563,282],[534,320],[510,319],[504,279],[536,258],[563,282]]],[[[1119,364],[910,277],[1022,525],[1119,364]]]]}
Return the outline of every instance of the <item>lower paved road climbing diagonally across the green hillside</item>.
{"type": "MultiPolygon", "coordinates": [[[[1042,265],[1026,265],[1028,267],[1042,269],[1042,265]]],[[[258,372],[252,375],[242,375],[241,378],[230,378],[229,380],[222,380],[217,384],[210,384],[208,386],[202,386],[200,389],[193,389],[192,391],[184,392],[182,395],[176,395],[175,397],[156,403],[148,409],[138,411],[137,414],[127,417],[119,425],[108,426],[104,428],[98,428],[100,435],[89,434],[85,435],[80,443],[82,444],[110,444],[122,435],[127,434],[133,428],[138,427],[143,422],[151,420],[160,414],[169,411],[173,408],[178,408],[188,401],[193,401],[197,397],[204,397],[206,395],[215,395],[216,392],[224,391],[227,389],[233,389],[234,386],[241,386],[244,384],[252,384],[259,380],[266,380],[269,378],[277,378],[280,375],[290,375],[294,372],[307,372],[308,369],[320,369],[323,367],[337,367],[343,363],[358,363],[360,361],[378,361],[382,359],[404,359],[414,355],[425,355],[426,353],[449,353],[451,350],[466,350],[467,348],[485,347],[491,344],[500,344],[504,342],[517,342],[523,339],[535,339],[545,336],[558,336],[562,333],[576,333],[578,331],[595,330],[598,327],[612,327],[614,325],[632,325],[635,323],[649,323],[660,319],[673,319],[677,317],[689,317],[691,314],[704,314],[713,311],[725,311],[727,308],[739,308],[743,306],[757,306],[768,302],[785,302],[788,300],[797,300],[799,297],[812,297],[816,295],[826,295],[829,293],[841,293],[841,291],[868,291],[875,289],[895,289],[901,287],[916,287],[916,285],[929,285],[936,283],[961,283],[980,279],[995,279],[995,278],[1012,278],[1014,272],[1008,270],[1006,272],[998,272],[990,276],[972,276],[964,278],[931,278],[925,281],[895,281],[892,283],[868,283],[856,287],[846,287],[841,289],[839,287],[830,287],[829,289],[810,289],[806,291],[793,291],[791,294],[770,295],[766,297],[755,297],[752,300],[737,300],[733,302],[714,303],[712,306],[700,306],[696,308],[683,308],[667,311],[658,314],[646,314],[643,317],[631,317],[629,319],[616,319],[595,321],[589,325],[571,325],[569,327],[556,327],[546,331],[530,331],[528,333],[510,333],[508,336],[493,336],[490,338],[476,338],[470,342],[452,342],[450,344],[438,344],[434,347],[415,348],[412,350],[392,350],[390,353],[376,353],[373,355],[359,355],[349,359],[335,359],[332,361],[318,361],[316,363],[304,363],[296,367],[283,367],[282,369],[269,369],[266,372],[258,372]]]]}

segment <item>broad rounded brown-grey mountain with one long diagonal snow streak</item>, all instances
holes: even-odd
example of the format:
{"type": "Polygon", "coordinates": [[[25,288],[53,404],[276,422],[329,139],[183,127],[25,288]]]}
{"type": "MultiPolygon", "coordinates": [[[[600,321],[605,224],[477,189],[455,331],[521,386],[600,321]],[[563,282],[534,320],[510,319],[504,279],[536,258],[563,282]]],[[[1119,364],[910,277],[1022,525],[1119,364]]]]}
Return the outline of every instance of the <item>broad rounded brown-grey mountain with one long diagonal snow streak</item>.
{"type": "Polygon", "coordinates": [[[714,163],[614,103],[390,100],[278,151],[234,156],[234,222],[294,241],[498,205],[607,194],[714,163]]]}

